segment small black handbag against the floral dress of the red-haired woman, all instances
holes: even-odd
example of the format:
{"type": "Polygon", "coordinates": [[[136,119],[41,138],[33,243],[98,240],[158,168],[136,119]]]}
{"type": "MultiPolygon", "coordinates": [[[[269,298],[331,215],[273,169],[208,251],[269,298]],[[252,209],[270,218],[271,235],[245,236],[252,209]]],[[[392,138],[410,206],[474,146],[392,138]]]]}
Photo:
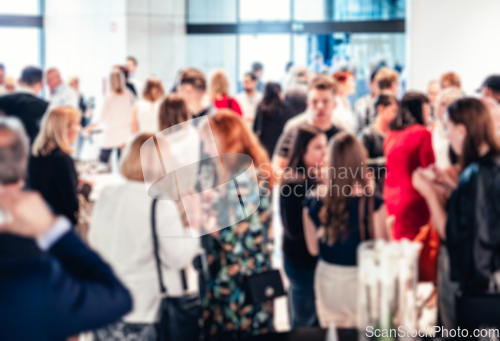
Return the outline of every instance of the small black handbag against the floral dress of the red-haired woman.
{"type": "Polygon", "coordinates": [[[270,270],[245,278],[247,303],[259,305],[286,295],[279,270],[270,270]]]}

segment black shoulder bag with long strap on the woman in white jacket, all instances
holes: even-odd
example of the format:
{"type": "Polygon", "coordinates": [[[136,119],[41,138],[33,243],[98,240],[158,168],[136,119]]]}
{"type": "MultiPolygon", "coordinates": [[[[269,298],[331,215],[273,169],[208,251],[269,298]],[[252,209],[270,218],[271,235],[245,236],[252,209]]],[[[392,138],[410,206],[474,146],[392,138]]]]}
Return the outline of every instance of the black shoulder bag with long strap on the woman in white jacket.
{"type": "MultiPolygon", "coordinates": [[[[202,306],[198,294],[184,295],[182,297],[169,297],[163,284],[161,260],[158,251],[158,236],[156,233],[156,201],[153,199],[151,207],[151,229],[153,235],[153,249],[162,296],[159,321],[156,324],[158,341],[195,341],[199,339],[202,306]]],[[[181,272],[184,288],[186,281],[184,272],[181,272]]]]}

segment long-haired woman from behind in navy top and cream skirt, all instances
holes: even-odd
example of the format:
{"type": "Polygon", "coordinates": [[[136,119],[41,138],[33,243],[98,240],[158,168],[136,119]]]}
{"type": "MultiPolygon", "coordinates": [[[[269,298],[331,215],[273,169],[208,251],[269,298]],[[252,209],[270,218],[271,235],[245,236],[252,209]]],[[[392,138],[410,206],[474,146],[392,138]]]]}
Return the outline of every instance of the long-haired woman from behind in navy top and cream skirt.
{"type": "Polygon", "coordinates": [[[319,256],[314,277],[321,327],[357,326],[356,251],[364,240],[385,236],[385,208],[367,171],[367,152],[356,137],[342,132],[329,149],[324,185],[304,202],[307,249],[319,256]],[[345,176],[340,172],[347,170],[345,176]]]}

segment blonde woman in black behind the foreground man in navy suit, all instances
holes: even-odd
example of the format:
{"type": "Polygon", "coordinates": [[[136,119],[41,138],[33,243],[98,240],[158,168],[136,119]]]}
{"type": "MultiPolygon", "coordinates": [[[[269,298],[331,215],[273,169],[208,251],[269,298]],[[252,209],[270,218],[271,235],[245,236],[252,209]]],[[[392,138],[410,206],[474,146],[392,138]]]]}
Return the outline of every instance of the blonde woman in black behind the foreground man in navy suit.
{"type": "Polygon", "coordinates": [[[73,224],[78,214],[78,177],[70,155],[80,122],[78,109],[53,109],[42,120],[29,162],[31,188],[42,194],[55,214],[65,215],[73,224]]]}

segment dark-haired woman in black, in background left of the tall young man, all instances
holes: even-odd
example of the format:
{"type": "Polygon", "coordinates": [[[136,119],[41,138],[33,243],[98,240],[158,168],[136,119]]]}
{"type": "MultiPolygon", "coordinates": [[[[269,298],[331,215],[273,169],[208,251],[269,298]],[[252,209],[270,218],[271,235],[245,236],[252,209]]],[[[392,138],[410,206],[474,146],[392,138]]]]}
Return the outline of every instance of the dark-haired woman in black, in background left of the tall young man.
{"type": "Polygon", "coordinates": [[[253,130],[271,158],[286,121],[293,116],[292,108],[284,101],[281,85],[267,83],[264,98],[257,108],[253,130]]]}

